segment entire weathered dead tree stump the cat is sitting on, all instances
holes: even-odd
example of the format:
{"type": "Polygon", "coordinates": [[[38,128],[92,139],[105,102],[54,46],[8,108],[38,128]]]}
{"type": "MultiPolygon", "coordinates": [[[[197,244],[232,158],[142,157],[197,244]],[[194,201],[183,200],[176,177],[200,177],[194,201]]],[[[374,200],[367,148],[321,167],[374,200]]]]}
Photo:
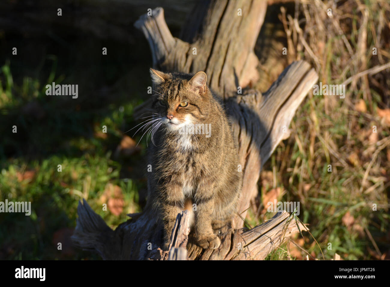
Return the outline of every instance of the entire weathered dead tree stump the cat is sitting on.
{"type": "MultiPolygon", "coordinates": [[[[148,205],[114,231],[85,200],[79,203],[72,236],[76,246],[94,250],[103,259],[259,260],[299,229],[307,229],[301,223],[298,228],[285,211],[251,230],[243,228],[247,209],[258,193],[257,182],[264,162],[280,141],[289,136],[287,127],[296,109],[318,79],[307,62],[298,61],[288,66],[264,94],[244,89],[259,78],[253,49],[266,5],[266,1],[199,2],[182,33],[183,39],[192,41],[191,44],[172,37],[162,8],[154,9],[152,16],[141,16],[135,23],[149,42],[154,68],[185,73],[205,71],[209,86],[224,99],[232,119],[244,179],[232,226],[219,230],[220,248],[203,250],[188,242],[186,212],[177,216],[170,251],[163,251],[160,249],[163,227],[148,205]],[[238,93],[240,87],[242,94],[238,93]]],[[[138,107],[135,116],[149,104],[146,101],[138,107]]]]}

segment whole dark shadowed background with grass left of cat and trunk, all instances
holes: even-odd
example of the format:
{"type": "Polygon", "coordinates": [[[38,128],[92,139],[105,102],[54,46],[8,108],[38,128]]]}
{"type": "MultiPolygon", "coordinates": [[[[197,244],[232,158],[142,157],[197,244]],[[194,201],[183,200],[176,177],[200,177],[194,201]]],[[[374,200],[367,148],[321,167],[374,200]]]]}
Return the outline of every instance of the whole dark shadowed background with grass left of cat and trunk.
{"type": "Polygon", "coordinates": [[[176,14],[167,22],[177,36],[190,9],[180,2],[0,3],[0,201],[32,203],[31,216],[0,214],[1,259],[98,259],[74,250],[69,238],[76,194],[101,206],[108,181],[134,205],[120,218],[109,206],[112,224],[144,205],[145,140],[141,152],[117,150],[122,138],[133,137],[126,133],[139,122],[133,108],[147,99],[151,84],[149,46],[133,23],[159,5],[176,14]],[[78,85],[78,97],[47,95],[52,82],[78,85]]]}

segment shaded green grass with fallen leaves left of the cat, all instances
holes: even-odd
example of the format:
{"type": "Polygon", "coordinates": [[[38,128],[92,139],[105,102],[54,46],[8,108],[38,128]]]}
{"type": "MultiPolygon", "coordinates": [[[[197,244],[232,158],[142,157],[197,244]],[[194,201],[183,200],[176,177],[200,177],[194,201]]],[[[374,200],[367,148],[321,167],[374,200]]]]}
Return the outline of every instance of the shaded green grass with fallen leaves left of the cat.
{"type": "MultiPolygon", "coordinates": [[[[64,228],[74,228],[78,201],[82,198],[112,228],[126,221],[126,214],[141,210],[138,190],[145,187],[144,180],[129,178],[126,169],[131,160],[112,159],[113,147],[126,131],[122,128],[134,125],[131,114],[139,100],[123,102],[121,109],[113,103],[101,112],[93,106],[80,112],[73,109],[69,100],[58,103],[48,98],[42,89],[45,84],[37,79],[24,77],[21,86],[16,85],[9,63],[1,71],[0,201],[30,201],[32,211],[31,216],[0,214],[0,258],[98,259],[80,250],[64,255],[57,250],[53,236],[64,228]],[[48,121],[41,122],[34,115],[23,113],[23,107],[32,102],[48,121]],[[17,126],[17,133],[12,133],[13,125],[17,126]],[[103,125],[107,126],[105,138],[98,135],[102,134],[103,125]],[[14,156],[7,157],[9,152],[14,152],[14,156]],[[58,165],[62,166],[61,171],[58,165]],[[23,175],[30,176],[23,179],[23,175]],[[108,183],[121,189],[124,208],[119,216],[109,208],[103,210],[107,198],[102,201],[102,196],[108,183]]],[[[48,82],[53,77],[50,73],[48,82]]],[[[136,159],[139,157],[135,155],[136,159]]]]}

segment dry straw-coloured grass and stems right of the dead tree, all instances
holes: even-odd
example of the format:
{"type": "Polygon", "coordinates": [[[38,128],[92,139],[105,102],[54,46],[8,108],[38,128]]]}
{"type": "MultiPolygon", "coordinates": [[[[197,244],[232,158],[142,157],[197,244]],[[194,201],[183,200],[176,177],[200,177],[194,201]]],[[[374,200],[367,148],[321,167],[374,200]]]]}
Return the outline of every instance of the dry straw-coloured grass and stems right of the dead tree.
{"type": "MultiPolygon", "coordinates": [[[[303,4],[300,5],[302,8],[303,4]]],[[[306,18],[308,13],[301,11],[300,14],[301,18],[306,18],[302,22],[302,29],[307,28],[305,39],[315,51],[317,59],[312,58],[305,49],[301,48],[299,52],[300,58],[311,62],[312,66],[317,60],[320,61],[319,66],[323,69],[317,70],[319,82],[339,84],[362,69],[390,61],[387,52],[383,52],[381,58],[379,53],[371,53],[372,47],[386,50],[385,47],[389,46],[388,37],[384,36],[390,32],[386,28],[389,22],[386,20],[384,23],[384,18],[380,17],[381,13],[388,15],[390,11],[386,2],[367,1],[367,29],[360,26],[362,14],[355,2],[337,5],[333,18],[323,13],[324,6],[321,5],[326,4],[319,2],[319,6],[308,5],[309,18],[306,18]],[[346,16],[348,13],[351,14],[346,16]],[[338,35],[333,25],[335,21],[340,21],[355,54],[349,55],[342,37],[335,36],[338,35]],[[311,28],[318,27],[319,22],[327,27],[326,31],[320,33],[311,28]],[[374,27],[380,26],[385,28],[381,30],[381,39],[377,42],[378,31],[374,27]],[[367,66],[362,68],[357,43],[363,33],[367,35],[363,54],[368,57],[367,66]],[[319,50],[321,45],[325,45],[324,50],[319,50]]],[[[299,50],[299,42],[291,41],[295,44],[295,51],[299,50]]],[[[262,182],[268,184],[259,185],[262,197],[275,186],[285,191],[278,201],[300,202],[299,218],[309,224],[312,236],[303,232],[305,244],[301,235],[296,235],[292,241],[310,253],[310,257],[322,259],[321,250],[325,259],[335,258],[336,253],[344,260],[388,259],[390,256],[389,127],[383,124],[376,112],[377,107],[388,108],[388,95],[380,90],[388,91],[388,75],[388,71],[383,71],[368,77],[371,96],[364,89],[362,79],[356,82],[356,86],[347,85],[344,100],[309,93],[291,123],[290,138],[278,146],[263,168],[262,182]],[[364,100],[367,112],[356,111],[354,105],[360,99],[364,100]],[[371,137],[373,125],[378,128],[377,137],[371,137]],[[329,164],[332,165],[332,172],[328,172],[329,164]],[[267,179],[267,172],[275,174],[276,182],[267,179]],[[363,181],[366,173],[367,178],[363,181]],[[373,210],[373,204],[377,205],[377,210],[373,210]],[[332,244],[331,249],[328,249],[329,243],[332,244]]],[[[261,196],[259,202],[262,202],[261,196]]],[[[263,208],[262,204],[252,207],[246,219],[248,226],[274,215],[259,212],[263,208]],[[257,213],[261,214],[259,218],[254,217],[257,213]]],[[[293,244],[285,245],[270,254],[268,259],[306,258],[305,252],[298,250],[290,253],[289,247],[294,248],[293,244]]]]}

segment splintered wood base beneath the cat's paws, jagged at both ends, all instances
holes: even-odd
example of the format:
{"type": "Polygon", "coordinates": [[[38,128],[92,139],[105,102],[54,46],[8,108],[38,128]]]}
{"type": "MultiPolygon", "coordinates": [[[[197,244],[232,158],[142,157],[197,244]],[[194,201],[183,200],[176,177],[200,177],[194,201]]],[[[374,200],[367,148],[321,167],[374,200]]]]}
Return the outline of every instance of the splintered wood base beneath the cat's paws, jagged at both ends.
{"type": "MultiPolygon", "coordinates": [[[[72,236],[76,246],[84,250],[94,250],[105,260],[126,260],[126,259],[155,259],[155,260],[262,260],[275,248],[285,242],[291,235],[298,232],[298,226],[291,216],[285,211],[277,213],[272,219],[262,225],[256,226],[251,230],[232,229],[223,227],[219,235],[222,238],[221,246],[217,250],[202,250],[199,246],[187,243],[189,234],[189,221],[186,211],[178,214],[176,225],[172,230],[170,251],[163,251],[155,247],[152,241],[153,232],[161,236],[161,226],[154,225],[147,219],[138,219],[133,225],[129,221],[118,226],[113,231],[103,221],[103,219],[94,213],[87,202],[83,200],[78,206],[77,226],[72,236]],[[137,223],[137,225],[134,225],[137,223]],[[141,225],[149,224],[147,228],[148,236],[151,239],[144,240],[139,230],[141,225]],[[151,225],[150,225],[151,224],[151,225]],[[154,230],[154,228],[160,230],[154,230]],[[134,232],[133,234],[130,234],[134,232]],[[131,248],[129,235],[134,242],[137,250],[131,248]],[[134,237],[134,235],[137,235],[134,237]],[[139,240],[135,239],[138,238],[139,240]],[[184,246],[187,246],[185,250],[184,246]],[[133,252],[132,252],[133,250],[133,252]],[[138,257],[137,257],[138,255],[138,257]]],[[[308,230],[306,226],[299,223],[300,230],[308,230]]],[[[144,229],[143,229],[144,230],[144,229]]],[[[161,243],[161,239],[160,239],[161,243]]]]}

